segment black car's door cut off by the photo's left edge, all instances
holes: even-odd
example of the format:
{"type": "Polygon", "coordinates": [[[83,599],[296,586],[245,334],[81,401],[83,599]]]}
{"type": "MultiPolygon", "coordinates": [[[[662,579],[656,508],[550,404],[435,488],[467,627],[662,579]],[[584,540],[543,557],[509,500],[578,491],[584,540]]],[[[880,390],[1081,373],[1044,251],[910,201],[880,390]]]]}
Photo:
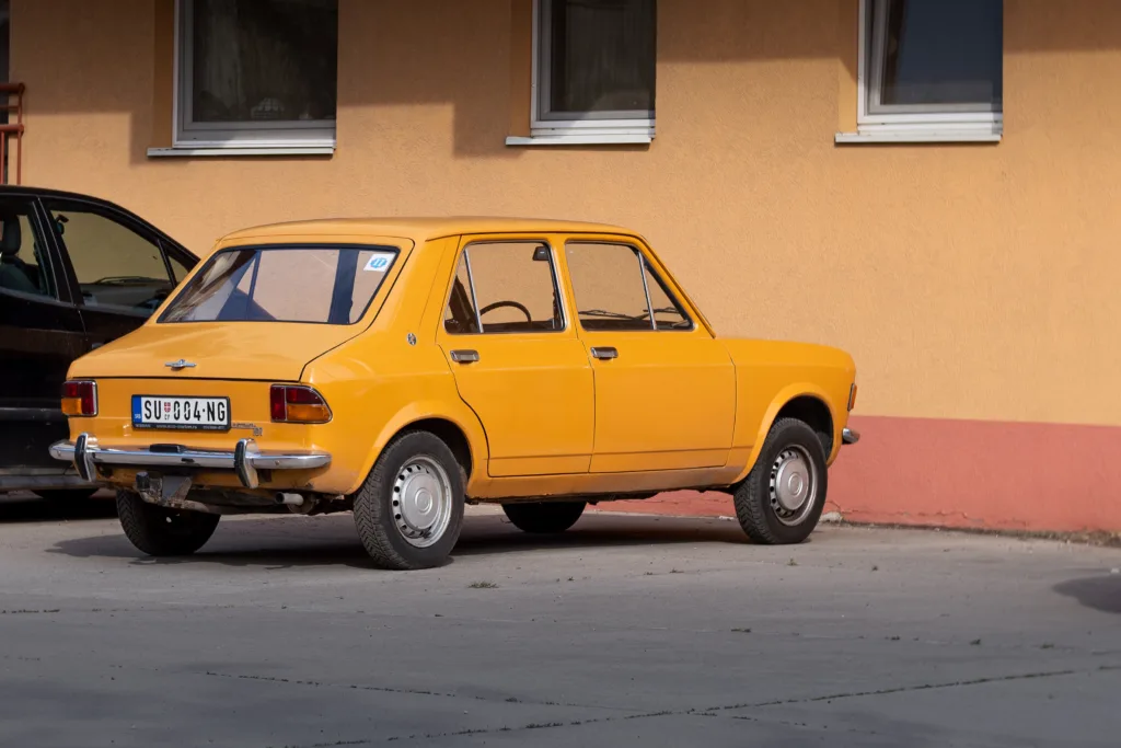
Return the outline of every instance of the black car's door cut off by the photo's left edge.
{"type": "Polygon", "coordinates": [[[83,345],[35,198],[0,196],[0,487],[6,474],[59,471],[47,447],[66,437],[62,385],[83,345]]]}

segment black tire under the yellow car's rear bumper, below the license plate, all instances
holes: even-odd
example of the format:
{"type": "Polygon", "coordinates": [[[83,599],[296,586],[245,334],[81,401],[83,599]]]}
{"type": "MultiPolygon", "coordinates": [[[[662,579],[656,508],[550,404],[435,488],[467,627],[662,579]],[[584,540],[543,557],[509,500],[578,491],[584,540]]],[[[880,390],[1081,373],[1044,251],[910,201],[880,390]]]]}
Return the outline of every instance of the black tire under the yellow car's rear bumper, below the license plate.
{"type": "Polygon", "coordinates": [[[117,491],[117,516],[126,537],[149,556],[189,556],[206,545],[219,515],[148,504],[132,491],[117,491]]]}

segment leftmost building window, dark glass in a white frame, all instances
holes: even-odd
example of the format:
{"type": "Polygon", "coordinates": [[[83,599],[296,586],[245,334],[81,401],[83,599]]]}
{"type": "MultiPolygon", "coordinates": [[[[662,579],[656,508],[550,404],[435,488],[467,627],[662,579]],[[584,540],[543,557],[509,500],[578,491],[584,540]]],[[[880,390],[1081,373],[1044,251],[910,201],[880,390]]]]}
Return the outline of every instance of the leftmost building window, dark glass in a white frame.
{"type": "Polygon", "coordinates": [[[337,0],[179,0],[175,145],[335,141],[337,0]]]}

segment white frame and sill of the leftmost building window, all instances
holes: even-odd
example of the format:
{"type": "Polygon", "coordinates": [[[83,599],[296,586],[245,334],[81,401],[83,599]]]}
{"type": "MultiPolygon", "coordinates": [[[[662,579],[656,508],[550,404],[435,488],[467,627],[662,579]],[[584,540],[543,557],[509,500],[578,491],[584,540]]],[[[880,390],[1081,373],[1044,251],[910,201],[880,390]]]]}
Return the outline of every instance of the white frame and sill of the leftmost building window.
{"type": "MultiPolygon", "coordinates": [[[[195,0],[175,0],[175,65],[172,148],[149,156],[327,155],[334,153],[336,120],[330,122],[192,122],[195,0]]],[[[336,81],[337,84],[337,81],[336,81]]],[[[336,113],[337,117],[337,113],[336,113]]]]}

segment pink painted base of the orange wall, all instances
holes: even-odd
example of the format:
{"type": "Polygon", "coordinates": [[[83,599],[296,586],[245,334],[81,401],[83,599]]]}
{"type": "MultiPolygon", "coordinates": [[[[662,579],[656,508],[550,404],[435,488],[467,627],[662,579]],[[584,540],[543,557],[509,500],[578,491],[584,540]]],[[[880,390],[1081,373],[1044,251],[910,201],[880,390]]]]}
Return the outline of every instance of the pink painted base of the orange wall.
{"type": "MultiPolygon", "coordinates": [[[[853,417],[861,441],[830,470],[849,521],[1121,532],[1121,427],[853,417]]],[[[732,516],[731,497],[675,491],[603,511],[732,516]]]]}

